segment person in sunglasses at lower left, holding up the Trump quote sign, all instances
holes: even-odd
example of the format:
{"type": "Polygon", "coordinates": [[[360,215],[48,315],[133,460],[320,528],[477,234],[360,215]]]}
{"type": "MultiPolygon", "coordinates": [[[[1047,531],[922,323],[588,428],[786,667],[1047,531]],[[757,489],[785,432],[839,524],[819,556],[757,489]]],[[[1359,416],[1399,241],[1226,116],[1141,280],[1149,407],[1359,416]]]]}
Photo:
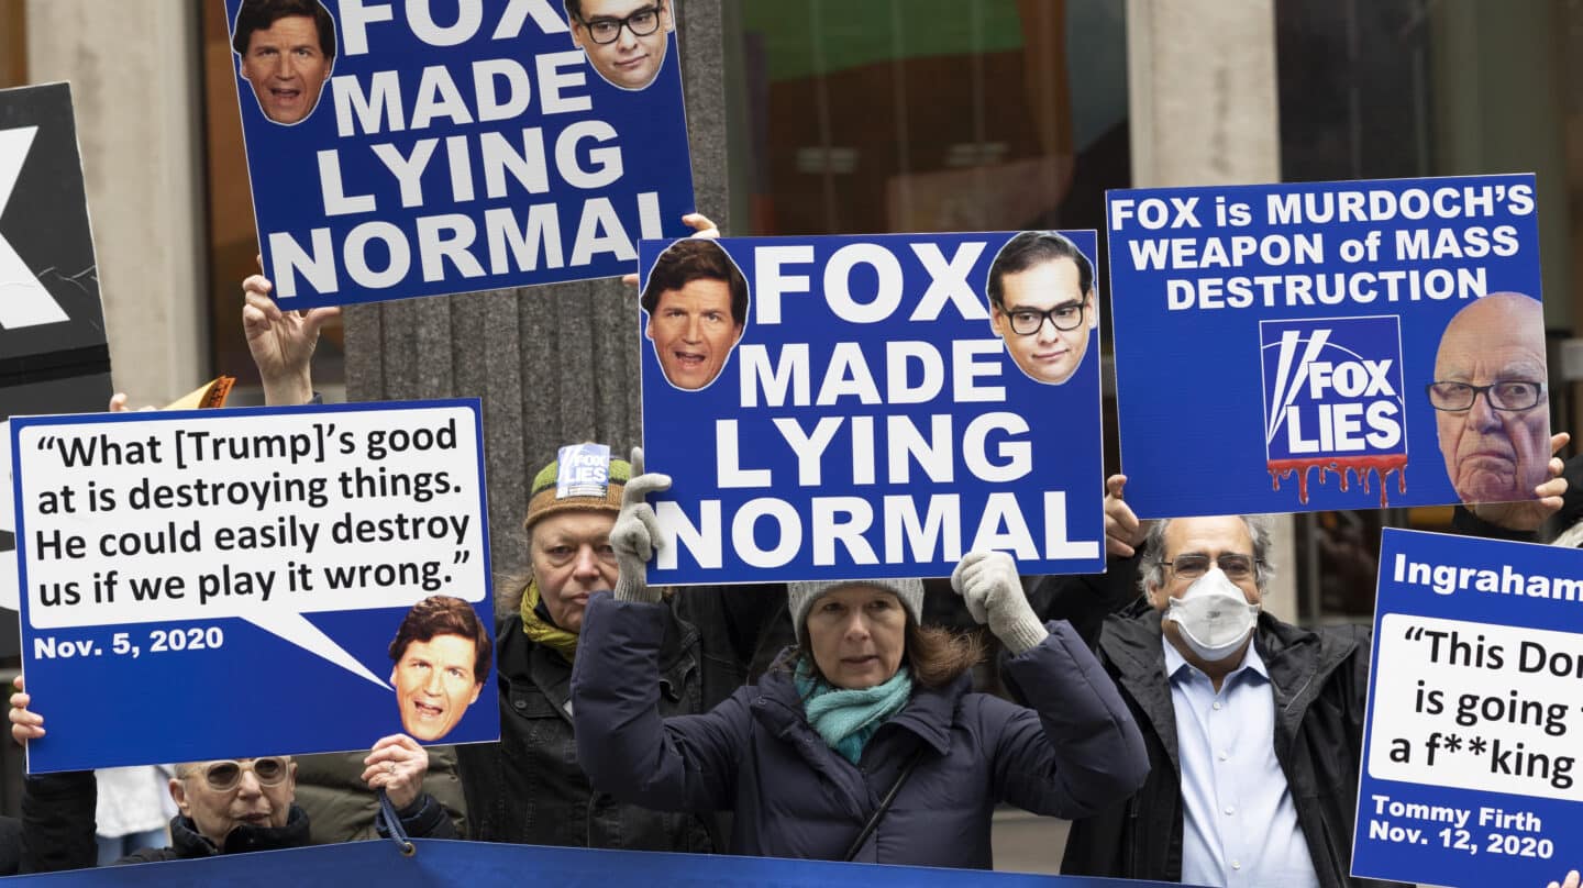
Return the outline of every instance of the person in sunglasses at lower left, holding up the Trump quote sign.
{"type": "MultiPolygon", "coordinates": [[[[44,739],[44,717],[30,709],[22,679],[11,695],[11,736],[21,744],[44,739]]],[[[405,734],[382,738],[364,758],[369,791],[385,790],[402,829],[412,837],[456,839],[443,806],[423,791],[429,753],[405,734]]],[[[144,848],[119,861],[196,860],[241,852],[296,848],[309,844],[307,814],[294,804],[296,763],[288,755],[188,761],[169,782],[179,814],[171,844],[144,848]]],[[[92,771],[30,776],[22,790],[22,869],[82,869],[95,863],[92,771]]],[[[386,833],[383,814],[377,826],[386,833]]]]}

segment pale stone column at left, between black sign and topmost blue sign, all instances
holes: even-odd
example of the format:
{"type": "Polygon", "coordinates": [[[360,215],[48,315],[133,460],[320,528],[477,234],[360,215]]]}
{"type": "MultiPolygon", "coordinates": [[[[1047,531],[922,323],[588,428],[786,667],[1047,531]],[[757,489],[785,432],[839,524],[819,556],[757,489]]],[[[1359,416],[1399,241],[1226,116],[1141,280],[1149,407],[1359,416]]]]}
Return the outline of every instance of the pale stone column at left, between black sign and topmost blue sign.
{"type": "Polygon", "coordinates": [[[198,5],[28,0],[27,59],[71,81],[116,388],[165,404],[209,355],[198,5]]]}

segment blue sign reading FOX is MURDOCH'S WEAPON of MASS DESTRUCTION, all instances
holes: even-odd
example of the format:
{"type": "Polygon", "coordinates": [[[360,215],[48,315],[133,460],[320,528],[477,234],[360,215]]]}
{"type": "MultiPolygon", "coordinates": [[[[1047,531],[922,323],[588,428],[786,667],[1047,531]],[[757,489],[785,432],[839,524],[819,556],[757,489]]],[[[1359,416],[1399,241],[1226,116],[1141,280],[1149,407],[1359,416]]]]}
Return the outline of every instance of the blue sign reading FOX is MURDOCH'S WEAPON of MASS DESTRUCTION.
{"type": "Polygon", "coordinates": [[[1547,480],[1534,177],[1110,192],[1141,518],[1513,502],[1547,480]]]}

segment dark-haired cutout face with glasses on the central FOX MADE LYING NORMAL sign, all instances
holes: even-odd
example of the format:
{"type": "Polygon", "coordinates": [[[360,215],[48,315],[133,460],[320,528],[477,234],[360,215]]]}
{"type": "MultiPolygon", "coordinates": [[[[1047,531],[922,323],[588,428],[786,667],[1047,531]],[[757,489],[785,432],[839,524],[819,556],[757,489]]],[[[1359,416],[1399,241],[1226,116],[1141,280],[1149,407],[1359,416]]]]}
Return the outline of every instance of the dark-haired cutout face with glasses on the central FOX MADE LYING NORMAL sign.
{"type": "Polygon", "coordinates": [[[1083,364],[1094,310],[1094,264],[1054,231],[1023,231],[989,266],[989,326],[1032,380],[1062,385],[1083,364]]]}

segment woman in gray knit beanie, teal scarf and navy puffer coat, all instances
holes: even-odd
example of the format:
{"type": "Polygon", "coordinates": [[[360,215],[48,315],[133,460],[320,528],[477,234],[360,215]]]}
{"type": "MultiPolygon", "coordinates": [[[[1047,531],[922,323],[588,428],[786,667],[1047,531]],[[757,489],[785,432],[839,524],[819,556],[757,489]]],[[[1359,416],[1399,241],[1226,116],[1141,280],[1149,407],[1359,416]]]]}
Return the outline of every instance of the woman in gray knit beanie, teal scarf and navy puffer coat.
{"type": "Polygon", "coordinates": [[[989,817],[1008,801],[1083,817],[1132,795],[1143,738],[1065,622],[1042,625],[1004,552],[962,557],[951,584],[1012,657],[1034,708],[972,692],[975,639],[920,625],[918,579],[795,583],[785,668],[704,715],[663,719],[665,638],[646,564],[662,540],[633,480],[611,546],[614,595],[595,594],[571,674],[578,760],[595,788],[657,810],[731,810],[731,853],[991,866],[989,817]]]}

